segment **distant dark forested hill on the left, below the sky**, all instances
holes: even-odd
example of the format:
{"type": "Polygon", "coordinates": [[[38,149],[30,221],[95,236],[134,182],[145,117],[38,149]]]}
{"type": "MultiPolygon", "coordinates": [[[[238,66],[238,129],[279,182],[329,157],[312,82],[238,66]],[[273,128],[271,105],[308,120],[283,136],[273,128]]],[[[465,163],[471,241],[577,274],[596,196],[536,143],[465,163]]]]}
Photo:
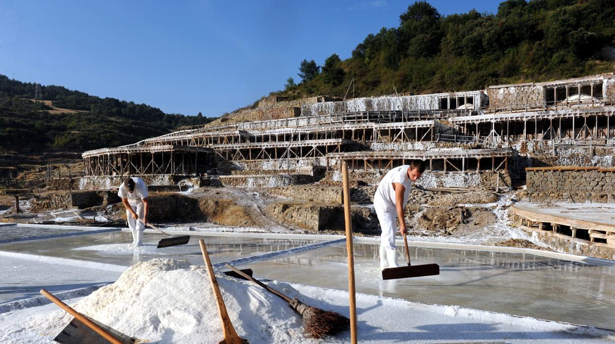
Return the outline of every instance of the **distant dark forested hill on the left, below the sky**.
{"type": "Polygon", "coordinates": [[[40,86],[42,100],[78,113],[49,113],[32,102],[36,84],[0,74],[0,148],[3,150],[84,151],[135,143],[181,126],[214,118],[166,114],[159,108],[115,98],[100,98],[62,86],[40,86]]]}

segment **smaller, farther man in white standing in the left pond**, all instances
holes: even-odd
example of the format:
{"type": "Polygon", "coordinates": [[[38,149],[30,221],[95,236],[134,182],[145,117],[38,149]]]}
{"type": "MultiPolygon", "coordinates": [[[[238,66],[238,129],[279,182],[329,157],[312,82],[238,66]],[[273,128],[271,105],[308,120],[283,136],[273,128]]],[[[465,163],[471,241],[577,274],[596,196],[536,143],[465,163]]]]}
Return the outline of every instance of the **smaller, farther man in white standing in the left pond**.
{"type": "Polygon", "coordinates": [[[148,223],[149,199],[148,186],[139,177],[124,180],[119,187],[117,196],[122,199],[126,208],[126,219],[132,232],[132,244],[129,248],[143,246],[143,231],[148,223]]]}

